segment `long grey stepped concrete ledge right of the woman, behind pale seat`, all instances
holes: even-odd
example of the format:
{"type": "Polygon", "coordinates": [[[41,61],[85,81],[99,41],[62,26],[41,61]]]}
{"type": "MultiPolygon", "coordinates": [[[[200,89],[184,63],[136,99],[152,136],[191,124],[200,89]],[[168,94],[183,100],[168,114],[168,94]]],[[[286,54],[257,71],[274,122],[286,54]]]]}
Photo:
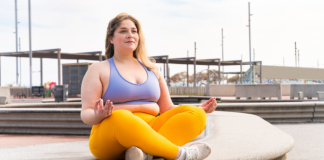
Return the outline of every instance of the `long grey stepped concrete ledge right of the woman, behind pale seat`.
{"type": "MultiPolygon", "coordinates": [[[[200,104],[191,104],[199,106],[200,104]]],[[[324,122],[324,102],[220,103],[217,111],[248,113],[270,123],[324,122]]]]}

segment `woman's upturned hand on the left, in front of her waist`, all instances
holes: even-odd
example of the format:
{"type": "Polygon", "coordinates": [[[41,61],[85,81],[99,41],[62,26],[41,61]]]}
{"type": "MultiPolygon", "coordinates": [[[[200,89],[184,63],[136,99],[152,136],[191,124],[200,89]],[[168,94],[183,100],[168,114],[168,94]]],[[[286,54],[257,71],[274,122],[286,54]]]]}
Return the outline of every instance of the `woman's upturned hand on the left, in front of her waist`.
{"type": "Polygon", "coordinates": [[[105,119],[111,115],[114,105],[110,100],[107,100],[105,106],[103,106],[103,100],[100,98],[96,101],[93,108],[96,117],[105,119]]]}

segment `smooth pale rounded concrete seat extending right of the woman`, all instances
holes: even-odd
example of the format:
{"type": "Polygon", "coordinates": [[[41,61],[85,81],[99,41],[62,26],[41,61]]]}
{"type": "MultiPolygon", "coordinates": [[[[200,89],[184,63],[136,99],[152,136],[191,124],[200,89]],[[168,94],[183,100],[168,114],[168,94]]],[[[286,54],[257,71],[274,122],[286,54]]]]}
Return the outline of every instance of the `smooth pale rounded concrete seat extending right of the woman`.
{"type": "Polygon", "coordinates": [[[221,111],[208,114],[206,136],[198,141],[212,147],[206,160],[285,160],[294,145],[290,135],[258,116],[221,111]]]}

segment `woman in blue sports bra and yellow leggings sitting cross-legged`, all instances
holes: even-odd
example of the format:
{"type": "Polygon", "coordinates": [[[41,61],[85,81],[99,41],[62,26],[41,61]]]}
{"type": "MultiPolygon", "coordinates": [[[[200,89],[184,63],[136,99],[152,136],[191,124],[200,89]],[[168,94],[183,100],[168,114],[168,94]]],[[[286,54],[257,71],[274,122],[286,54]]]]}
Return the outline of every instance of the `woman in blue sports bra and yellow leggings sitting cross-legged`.
{"type": "Polygon", "coordinates": [[[141,25],[121,13],[106,36],[107,61],[92,64],[81,88],[84,123],[93,125],[89,148],[98,159],[203,159],[204,143],[182,146],[206,126],[206,113],[216,109],[215,98],[202,106],[175,106],[165,80],[146,55],[141,25]],[[160,116],[157,116],[158,114],[160,116]]]}

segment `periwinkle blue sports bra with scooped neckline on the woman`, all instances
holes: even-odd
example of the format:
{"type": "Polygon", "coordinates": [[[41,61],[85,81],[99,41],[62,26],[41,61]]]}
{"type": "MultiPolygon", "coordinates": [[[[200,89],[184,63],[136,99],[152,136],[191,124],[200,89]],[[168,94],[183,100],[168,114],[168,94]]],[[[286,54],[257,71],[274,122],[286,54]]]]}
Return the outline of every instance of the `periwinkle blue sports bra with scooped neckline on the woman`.
{"type": "Polygon", "coordinates": [[[144,67],[147,79],[144,83],[134,84],[124,79],[118,72],[113,58],[108,59],[110,64],[110,79],[108,88],[103,95],[104,103],[109,99],[113,104],[147,104],[156,103],[160,98],[158,78],[153,71],[144,67]]]}

